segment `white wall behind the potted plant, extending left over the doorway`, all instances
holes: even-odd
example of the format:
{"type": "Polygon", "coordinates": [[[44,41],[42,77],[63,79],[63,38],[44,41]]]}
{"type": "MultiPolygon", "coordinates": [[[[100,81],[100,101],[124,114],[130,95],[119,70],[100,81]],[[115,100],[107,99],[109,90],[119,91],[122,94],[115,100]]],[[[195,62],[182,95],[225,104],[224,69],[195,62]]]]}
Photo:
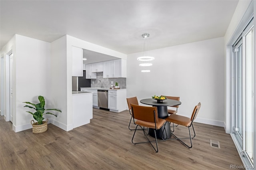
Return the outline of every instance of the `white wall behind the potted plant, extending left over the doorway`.
{"type": "MultiPolygon", "coordinates": [[[[38,103],[38,95],[50,98],[50,43],[14,35],[3,47],[1,55],[12,49],[13,52],[13,130],[19,132],[31,128],[32,115],[26,113],[28,108],[22,103],[38,103]]],[[[47,104],[47,103],[46,103],[47,104]]],[[[31,111],[31,110],[30,110],[31,111]]]]}

